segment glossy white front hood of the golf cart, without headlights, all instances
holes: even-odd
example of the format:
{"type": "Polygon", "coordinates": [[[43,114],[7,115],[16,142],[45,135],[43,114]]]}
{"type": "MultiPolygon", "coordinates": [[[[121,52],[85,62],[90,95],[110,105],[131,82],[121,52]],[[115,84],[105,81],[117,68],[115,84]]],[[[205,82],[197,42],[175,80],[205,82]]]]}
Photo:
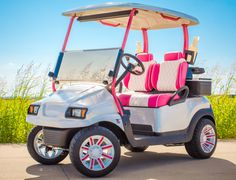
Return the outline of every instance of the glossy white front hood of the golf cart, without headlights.
{"type": "Polygon", "coordinates": [[[113,96],[98,84],[70,86],[33,104],[40,106],[38,115],[28,115],[27,121],[40,126],[73,128],[120,119],[113,96]],[[88,108],[86,119],[66,118],[69,107],[88,108]]]}

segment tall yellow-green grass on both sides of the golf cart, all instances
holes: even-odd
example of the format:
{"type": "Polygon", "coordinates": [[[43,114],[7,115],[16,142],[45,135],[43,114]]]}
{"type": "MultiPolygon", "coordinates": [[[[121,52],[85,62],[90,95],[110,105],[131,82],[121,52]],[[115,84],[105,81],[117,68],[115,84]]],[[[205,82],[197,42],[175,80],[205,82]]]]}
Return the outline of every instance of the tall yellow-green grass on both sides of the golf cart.
{"type": "MultiPolygon", "coordinates": [[[[23,66],[17,72],[17,83],[11,95],[7,94],[4,88],[6,83],[0,79],[0,143],[26,142],[27,134],[33,127],[25,121],[28,106],[31,102],[41,99],[48,89],[48,79],[46,75],[43,78],[37,76],[38,69],[38,66],[33,64],[23,66]],[[4,99],[6,95],[10,98],[4,99]]],[[[223,95],[212,95],[208,99],[215,114],[219,138],[231,139],[236,138],[236,97],[228,94],[230,88],[235,85],[235,74],[229,73],[226,79],[214,79],[213,87],[223,92],[223,95]]]]}

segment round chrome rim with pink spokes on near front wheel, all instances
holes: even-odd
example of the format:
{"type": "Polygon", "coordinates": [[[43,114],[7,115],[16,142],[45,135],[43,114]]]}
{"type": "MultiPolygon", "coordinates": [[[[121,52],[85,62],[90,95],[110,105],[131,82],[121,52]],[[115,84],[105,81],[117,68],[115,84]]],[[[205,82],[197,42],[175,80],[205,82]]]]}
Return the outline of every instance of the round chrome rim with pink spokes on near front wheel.
{"type": "Polygon", "coordinates": [[[108,138],[94,135],[82,143],[79,153],[80,161],[87,169],[101,171],[112,163],[115,149],[108,138]]]}

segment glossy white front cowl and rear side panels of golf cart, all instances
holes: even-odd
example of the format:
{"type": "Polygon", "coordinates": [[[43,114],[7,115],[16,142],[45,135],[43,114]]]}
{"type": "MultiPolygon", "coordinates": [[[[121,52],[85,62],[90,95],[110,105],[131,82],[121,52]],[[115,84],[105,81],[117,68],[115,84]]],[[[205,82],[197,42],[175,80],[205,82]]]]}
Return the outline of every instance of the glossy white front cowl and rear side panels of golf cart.
{"type": "MultiPolygon", "coordinates": [[[[36,117],[27,116],[27,121],[34,125],[81,128],[98,122],[111,122],[124,130],[114,99],[102,85],[75,85],[59,90],[34,104],[41,107],[36,117]],[[86,118],[66,118],[65,112],[69,107],[88,108],[86,118]]],[[[210,104],[205,97],[189,98],[184,103],[160,108],[125,107],[130,110],[132,124],[151,125],[156,133],[185,130],[198,111],[209,108],[210,104]]]]}

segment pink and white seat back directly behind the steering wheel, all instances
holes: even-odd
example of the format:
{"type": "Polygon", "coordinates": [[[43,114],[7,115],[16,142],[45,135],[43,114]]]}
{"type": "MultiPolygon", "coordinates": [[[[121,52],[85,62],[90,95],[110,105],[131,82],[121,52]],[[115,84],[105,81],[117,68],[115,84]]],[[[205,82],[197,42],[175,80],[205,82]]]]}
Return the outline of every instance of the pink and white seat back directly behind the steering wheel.
{"type": "Polygon", "coordinates": [[[126,88],[133,90],[133,91],[151,91],[151,71],[152,65],[155,64],[153,60],[153,55],[149,53],[140,53],[137,55],[137,58],[142,61],[145,71],[142,75],[133,75],[128,73],[124,78],[124,85],[126,88]]]}

